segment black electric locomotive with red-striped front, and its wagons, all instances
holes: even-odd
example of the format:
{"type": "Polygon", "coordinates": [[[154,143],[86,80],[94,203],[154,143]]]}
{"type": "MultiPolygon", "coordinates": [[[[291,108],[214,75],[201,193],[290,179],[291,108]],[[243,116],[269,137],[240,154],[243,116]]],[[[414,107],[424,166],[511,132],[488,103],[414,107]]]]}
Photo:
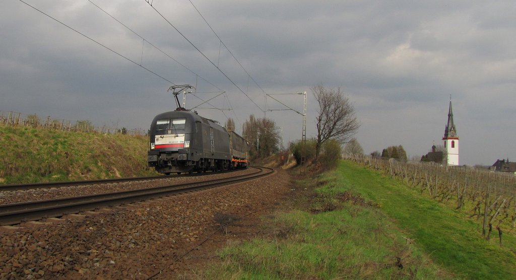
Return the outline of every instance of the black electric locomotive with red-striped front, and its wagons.
{"type": "Polygon", "coordinates": [[[234,131],[183,108],[158,114],[151,123],[148,163],[160,173],[245,168],[247,151],[234,131]]]}

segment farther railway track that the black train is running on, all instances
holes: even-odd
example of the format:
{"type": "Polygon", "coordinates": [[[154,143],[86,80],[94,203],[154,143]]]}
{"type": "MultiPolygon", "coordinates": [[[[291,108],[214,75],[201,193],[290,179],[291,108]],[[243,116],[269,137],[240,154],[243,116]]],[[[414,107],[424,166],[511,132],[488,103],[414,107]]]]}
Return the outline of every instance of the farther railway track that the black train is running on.
{"type": "Polygon", "coordinates": [[[21,190],[34,190],[34,189],[50,189],[70,186],[83,186],[91,184],[109,184],[109,183],[122,183],[122,182],[138,182],[143,180],[157,180],[164,178],[178,178],[178,177],[190,177],[190,176],[203,176],[209,174],[220,174],[232,171],[219,171],[219,172],[207,172],[207,173],[195,173],[195,174],[181,174],[181,175],[158,175],[149,177],[132,177],[132,178],[112,178],[112,179],[100,179],[100,180],[80,180],[80,181],[67,181],[67,182],[44,182],[44,183],[31,183],[31,184],[12,184],[12,185],[0,185],[0,191],[21,191],[21,190]]]}

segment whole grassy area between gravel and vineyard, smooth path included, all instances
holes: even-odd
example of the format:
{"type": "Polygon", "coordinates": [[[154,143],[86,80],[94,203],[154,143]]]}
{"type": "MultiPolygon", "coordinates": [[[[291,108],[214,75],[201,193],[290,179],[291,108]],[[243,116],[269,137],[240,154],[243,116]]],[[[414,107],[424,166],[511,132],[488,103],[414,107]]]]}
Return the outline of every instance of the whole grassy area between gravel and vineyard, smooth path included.
{"type": "MultiPolygon", "coordinates": [[[[350,162],[318,177],[297,210],[266,221],[281,233],[229,246],[218,278],[516,278],[513,235],[504,245],[419,192],[350,162]],[[322,182],[322,183],[321,183],[322,182]],[[363,197],[363,198],[362,198],[363,197]],[[401,268],[402,267],[402,268],[401,268]]],[[[297,181],[297,189],[313,180],[297,181]]]]}

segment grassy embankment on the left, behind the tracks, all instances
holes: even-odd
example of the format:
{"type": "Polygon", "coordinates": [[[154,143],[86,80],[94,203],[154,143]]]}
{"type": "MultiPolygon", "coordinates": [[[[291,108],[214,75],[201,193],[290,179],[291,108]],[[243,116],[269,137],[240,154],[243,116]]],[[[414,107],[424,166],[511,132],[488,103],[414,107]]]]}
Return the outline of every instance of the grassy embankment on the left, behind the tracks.
{"type": "Polygon", "coordinates": [[[0,184],[149,176],[148,139],[0,126],[0,184]]]}

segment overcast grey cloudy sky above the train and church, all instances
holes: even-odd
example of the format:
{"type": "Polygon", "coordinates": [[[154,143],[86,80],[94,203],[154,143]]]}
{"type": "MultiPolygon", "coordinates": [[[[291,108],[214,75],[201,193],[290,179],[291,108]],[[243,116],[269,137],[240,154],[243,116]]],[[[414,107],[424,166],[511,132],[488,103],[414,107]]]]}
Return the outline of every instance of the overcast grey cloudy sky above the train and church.
{"type": "MultiPolygon", "coordinates": [[[[313,137],[322,83],[353,102],[366,153],[420,157],[442,144],[451,94],[460,163],[516,160],[514,1],[150,1],[24,0],[47,15],[2,1],[0,111],[147,129],[175,109],[174,83],[196,86],[187,108],[225,91],[196,110],[241,126],[284,108],[265,94],[302,111],[276,94],[307,91],[313,137]]],[[[301,137],[299,114],[266,116],[301,137]]]]}

